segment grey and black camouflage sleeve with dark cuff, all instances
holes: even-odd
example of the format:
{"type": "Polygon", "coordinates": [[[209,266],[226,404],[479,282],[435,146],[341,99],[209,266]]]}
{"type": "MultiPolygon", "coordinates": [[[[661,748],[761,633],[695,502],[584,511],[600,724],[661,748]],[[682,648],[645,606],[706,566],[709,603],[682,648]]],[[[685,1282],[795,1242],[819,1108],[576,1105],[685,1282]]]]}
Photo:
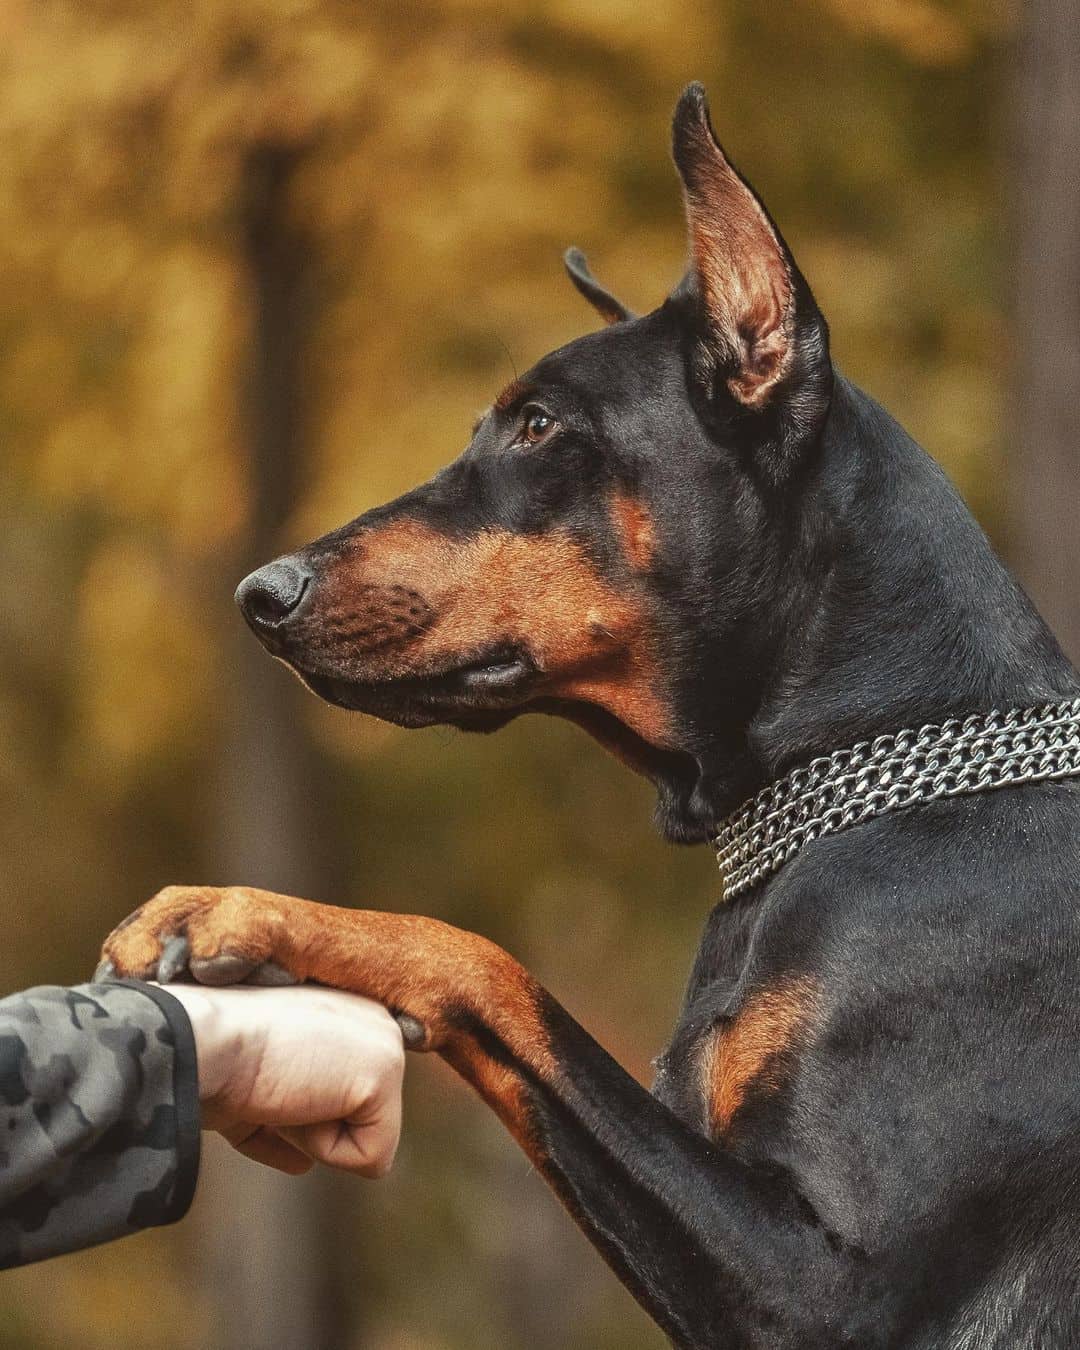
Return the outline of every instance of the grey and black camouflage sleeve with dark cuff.
{"type": "Polygon", "coordinates": [[[0,999],[0,1268],[182,1218],[198,1172],[188,1015],[163,990],[0,999]]]}

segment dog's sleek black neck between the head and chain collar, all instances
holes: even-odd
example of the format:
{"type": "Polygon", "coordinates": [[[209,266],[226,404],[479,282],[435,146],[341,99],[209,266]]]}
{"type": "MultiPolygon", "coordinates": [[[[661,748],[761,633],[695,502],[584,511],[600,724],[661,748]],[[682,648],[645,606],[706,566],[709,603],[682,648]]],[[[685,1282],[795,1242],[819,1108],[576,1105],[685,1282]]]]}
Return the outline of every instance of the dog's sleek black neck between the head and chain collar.
{"type": "Polygon", "coordinates": [[[698,821],[817,755],[1080,688],[938,466],[841,377],[788,505],[775,586],[748,626],[757,687],[742,691],[749,714],[698,748],[698,821]]]}

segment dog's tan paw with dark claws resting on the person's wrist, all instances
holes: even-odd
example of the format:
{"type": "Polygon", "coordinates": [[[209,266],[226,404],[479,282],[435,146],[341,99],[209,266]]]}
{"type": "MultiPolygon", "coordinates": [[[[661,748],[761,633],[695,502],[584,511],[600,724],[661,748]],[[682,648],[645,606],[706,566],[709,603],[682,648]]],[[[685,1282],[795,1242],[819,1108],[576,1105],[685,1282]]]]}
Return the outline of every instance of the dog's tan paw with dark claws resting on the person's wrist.
{"type": "Polygon", "coordinates": [[[282,915],[273,899],[243,886],[167,886],[105,938],[94,979],[296,984],[274,960],[282,915]]]}

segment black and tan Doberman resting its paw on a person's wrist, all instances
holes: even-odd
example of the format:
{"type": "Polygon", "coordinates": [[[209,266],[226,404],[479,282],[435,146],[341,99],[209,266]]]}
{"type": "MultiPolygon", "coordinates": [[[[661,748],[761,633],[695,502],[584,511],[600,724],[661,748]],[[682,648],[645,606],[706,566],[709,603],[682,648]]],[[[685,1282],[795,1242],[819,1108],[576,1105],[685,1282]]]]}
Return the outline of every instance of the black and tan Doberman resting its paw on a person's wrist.
{"type": "Polygon", "coordinates": [[[578,722],[655,783],[671,840],[756,798],[765,834],[730,855],[751,871],[653,1091],[436,919],[170,887],[105,957],[211,983],[273,961],[385,1003],[680,1346],[1077,1346],[1080,784],[1002,776],[956,728],[994,714],[1023,755],[1008,728],[1075,718],[1080,679],[942,473],[834,370],[698,85],[674,154],[691,252],[664,304],[633,316],[571,251],[608,325],[504,389],[431,482],[238,591],[331,703],[578,722]],[[957,761],[913,770],[925,744],[957,761]],[[937,786],[782,832],[757,868],[784,791],[828,819],[814,794],[836,806],[836,774],[883,755],[880,782],[937,786]],[[971,764],[1002,790],[965,790],[971,764]]]}

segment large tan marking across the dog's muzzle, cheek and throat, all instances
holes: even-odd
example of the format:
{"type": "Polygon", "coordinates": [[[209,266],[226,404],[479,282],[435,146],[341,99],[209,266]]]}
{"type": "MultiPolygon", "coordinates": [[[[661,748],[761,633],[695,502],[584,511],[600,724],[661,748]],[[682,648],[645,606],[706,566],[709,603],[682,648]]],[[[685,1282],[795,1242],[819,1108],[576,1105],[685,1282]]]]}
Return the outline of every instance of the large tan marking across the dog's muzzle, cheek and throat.
{"type": "Polygon", "coordinates": [[[358,536],[300,636],[310,659],[352,679],[439,672],[520,643],[540,670],[537,695],[597,703],[651,744],[671,744],[640,597],[616,590],[564,533],[452,539],[398,521],[358,536]]]}

